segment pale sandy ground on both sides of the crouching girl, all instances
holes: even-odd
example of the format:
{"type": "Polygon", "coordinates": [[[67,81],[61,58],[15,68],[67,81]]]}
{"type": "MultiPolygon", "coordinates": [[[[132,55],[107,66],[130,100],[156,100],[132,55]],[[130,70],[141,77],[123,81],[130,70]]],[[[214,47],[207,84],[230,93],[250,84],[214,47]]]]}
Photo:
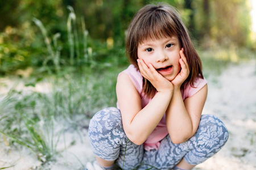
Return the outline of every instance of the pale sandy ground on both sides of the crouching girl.
{"type": "MultiPolygon", "coordinates": [[[[230,135],[220,152],[194,169],[256,169],[256,62],[232,65],[220,76],[209,76],[208,89],[203,114],[218,116],[230,135]]],[[[84,120],[84,124],[88,124],[88,120],[84,120]]],[[[26,148],[6,147],[1,138],[0,169],[14,163],[15,166],[8,169],[40,169],[35,155],[26,148]]],[[[80,135],[65,131],[65,140],[60,139],[57,150],[60,154],[56,161],[44,169],[82,169],[86,162],[94,160],[86,128],[81,128],[80,135]]]]}

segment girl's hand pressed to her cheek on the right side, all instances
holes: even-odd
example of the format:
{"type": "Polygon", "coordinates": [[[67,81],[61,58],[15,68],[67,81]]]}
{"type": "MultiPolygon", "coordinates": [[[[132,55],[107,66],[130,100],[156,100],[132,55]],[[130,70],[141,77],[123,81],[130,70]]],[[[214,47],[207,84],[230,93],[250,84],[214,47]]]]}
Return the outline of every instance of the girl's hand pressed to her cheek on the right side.
{"type": "Polygon", "coordinates": [[[181,84],[188,78],[189,75],[189,66],[188,66],[188,62],[187,59],[185,57],[183,48],[180,50],[180,66],[181,66],[181,70],[180,73],[176,75],[176,77],[174,78],[174,80],[172,80],[172,84],[174,85],[174,87],[179,88],[181,84]]]}

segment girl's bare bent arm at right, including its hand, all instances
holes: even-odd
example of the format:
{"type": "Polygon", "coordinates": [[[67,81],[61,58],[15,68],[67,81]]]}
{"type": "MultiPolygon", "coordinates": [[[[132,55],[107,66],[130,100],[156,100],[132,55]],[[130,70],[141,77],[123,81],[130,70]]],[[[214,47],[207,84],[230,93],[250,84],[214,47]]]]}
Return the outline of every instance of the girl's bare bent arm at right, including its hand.
{"type": "Polygon", "coordinates": [[[183,101],[180,86],[189,75],[189,67],[183,50],[180,51],[181,71],[172,80],[174,94],[166,111],[166,124],[173,143],[183,143],[191,138],[199,126],[201,113],[207,98],[207,85],[195,95],[183,101]]]}

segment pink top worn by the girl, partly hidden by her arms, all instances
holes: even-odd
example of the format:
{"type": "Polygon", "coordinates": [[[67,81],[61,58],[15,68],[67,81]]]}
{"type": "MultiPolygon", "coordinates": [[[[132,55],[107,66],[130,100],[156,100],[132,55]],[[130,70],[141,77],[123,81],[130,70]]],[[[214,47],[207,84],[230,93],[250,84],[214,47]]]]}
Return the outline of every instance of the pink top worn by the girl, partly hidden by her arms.
{"type": "MultiPolygon", "coordinates": [[[[151,99],[148,99],[146,95],[144,95],[142,88],[143,88],[143,76],[137,70],[137,68],[134,65],[130,65],[126,70],[122,71],[122,73],[126,73],[129,75],[131,81],[133,82],[134,86],[136,87],[139,95],[141,96],[142,101],[142,108],[144,108],[151,99]]],[[[185,86],[184,89],[181,89],[181,95],[183,98],[183,101],[187,97],[191,97],[196,94],[201,88],[203,88],[207,84],[207,80],[196,78],[194,82],[194,87],[191,87],[190,84],[185,86]]],[[[118,101],[117,101],[117,108],[119,108],[118,101]]],[[[160,141],[166,135],[168,134],[167,126],[166,126],[166,114],[164,114],[162,120],[160,120],[159,124],[156,126],[156,128],[152,131],[152,133],[148,136],[146,141],[143,143],[145,150],[152,150],[156,149],[158,150],[160,146],[160,141]]]]}

